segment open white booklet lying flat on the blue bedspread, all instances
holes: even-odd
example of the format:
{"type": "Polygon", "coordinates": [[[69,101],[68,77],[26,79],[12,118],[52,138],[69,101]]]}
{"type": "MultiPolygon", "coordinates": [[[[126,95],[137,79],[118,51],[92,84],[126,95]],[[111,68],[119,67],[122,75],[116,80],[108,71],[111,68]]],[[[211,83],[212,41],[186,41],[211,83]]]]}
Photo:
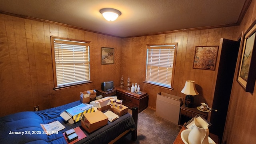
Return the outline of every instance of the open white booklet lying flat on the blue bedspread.
{"type": "Polygon", "coordinates": [[[63,130],[65,128],[65,126],[61,124],[58,120],[48,124],[40,125],[47,135],[58,134],[58,131],[63,130]]]}

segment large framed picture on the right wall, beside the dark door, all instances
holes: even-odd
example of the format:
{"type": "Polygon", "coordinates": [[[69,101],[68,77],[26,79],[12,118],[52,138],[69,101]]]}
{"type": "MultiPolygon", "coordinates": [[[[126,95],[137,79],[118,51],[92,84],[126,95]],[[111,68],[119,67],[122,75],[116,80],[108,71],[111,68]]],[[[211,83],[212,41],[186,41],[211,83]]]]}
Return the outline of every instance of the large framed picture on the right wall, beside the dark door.
{"type": "Polygon", "coordinates": [[[256,79],[256,24],[241,38],[243,41],[237,81],[253,93],[256,79]]]}

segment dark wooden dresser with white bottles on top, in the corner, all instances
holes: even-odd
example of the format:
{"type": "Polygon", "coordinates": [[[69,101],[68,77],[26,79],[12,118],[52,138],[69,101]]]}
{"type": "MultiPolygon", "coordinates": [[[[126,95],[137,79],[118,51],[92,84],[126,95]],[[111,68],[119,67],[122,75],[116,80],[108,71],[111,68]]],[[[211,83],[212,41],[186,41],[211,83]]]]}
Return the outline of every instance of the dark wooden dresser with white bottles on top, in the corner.
{"type": "Polygon", "coordinates": [[[123,105],[126,107],[130,109],[138,107],[138,112],[148,107],[148,93],[141,91],[142,94],[135,94],[126,90],[126,87],[115,87],[115,89],[117,98],[123,100],[123,105]]]}

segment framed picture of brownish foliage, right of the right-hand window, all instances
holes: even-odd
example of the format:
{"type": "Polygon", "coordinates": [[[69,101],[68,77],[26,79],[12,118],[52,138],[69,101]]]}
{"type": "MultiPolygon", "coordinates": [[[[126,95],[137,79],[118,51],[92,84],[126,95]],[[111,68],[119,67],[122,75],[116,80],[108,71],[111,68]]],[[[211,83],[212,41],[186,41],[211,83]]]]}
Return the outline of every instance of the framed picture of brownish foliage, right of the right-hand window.
{"type": "Polygon", "coordinates": [[[219,46],[196,46],[193,69],[215,70],[219,46]]]}

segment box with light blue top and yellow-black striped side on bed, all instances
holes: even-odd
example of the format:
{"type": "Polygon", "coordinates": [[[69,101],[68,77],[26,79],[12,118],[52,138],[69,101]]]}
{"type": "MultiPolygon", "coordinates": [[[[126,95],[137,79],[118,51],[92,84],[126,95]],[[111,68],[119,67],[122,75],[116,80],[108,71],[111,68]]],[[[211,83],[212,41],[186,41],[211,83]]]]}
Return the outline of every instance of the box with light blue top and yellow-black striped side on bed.
{"type": "Polygon", "coordinates": [[[74,124],[75,122],[78,122],[81,120],[83,114],[91,113],[96,110],[97,109],[95,107],[91,107],[90,105],[88,106],[88,105],[82,103],[76,107],[72,107],[72,108],[65,110],[64,112],[62,112],[60,114],[60,116],[64,120],[68,121],[68,123],[74,124]],[[86,107],[88,107],[88,108],[86,108],[86,107]]]}

